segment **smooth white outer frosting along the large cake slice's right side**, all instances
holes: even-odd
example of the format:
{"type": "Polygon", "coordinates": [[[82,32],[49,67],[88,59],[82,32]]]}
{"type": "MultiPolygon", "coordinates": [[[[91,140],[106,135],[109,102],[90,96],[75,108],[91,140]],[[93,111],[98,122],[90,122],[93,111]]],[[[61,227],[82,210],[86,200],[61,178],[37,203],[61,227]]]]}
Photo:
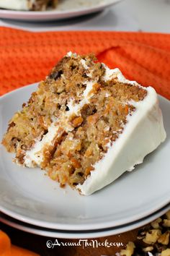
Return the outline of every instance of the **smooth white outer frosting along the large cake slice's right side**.
{"type": "MultiPolygon", "coordinates": [[[[107,68],[104,80],[115,76],[120,82],[138,85],[137,82],[126,80],[119,69],[107,68]]],[[[91,171],[84,184],[76,186],[82,195],[91,195],[114,182],[125,171],[132,171],[136,164],[143,163],[143,158],[166,139],[158,95],[151,87],[145,90],[147,95],[143,101],[130,101],[135,111],[132,116],[128,116],[122,134],[109,146],[104,157],[94,164],[94,171],[91,171]]]]}

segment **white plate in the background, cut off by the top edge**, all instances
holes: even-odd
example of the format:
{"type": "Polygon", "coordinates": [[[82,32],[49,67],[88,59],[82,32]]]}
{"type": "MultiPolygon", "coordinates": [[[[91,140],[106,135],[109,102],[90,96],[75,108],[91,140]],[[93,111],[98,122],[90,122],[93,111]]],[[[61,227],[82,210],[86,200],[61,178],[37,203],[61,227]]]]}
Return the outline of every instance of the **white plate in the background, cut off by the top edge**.
{"type": "Polygon", "coordinates": [[[99,12],[119,1],[121,0],[63,0],[61,4],[58,4],[57,9],[45,12],[0,9],[0,18],[30,21],[61,20],[99,12]]]}

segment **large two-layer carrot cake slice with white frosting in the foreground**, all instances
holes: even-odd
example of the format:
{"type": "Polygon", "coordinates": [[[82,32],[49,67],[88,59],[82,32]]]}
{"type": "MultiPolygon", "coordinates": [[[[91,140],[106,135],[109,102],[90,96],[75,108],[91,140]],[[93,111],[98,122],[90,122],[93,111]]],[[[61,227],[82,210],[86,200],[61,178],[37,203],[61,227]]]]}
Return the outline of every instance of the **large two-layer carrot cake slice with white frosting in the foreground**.
{"type": "Polygon", "coordinates": [[[2,143],[84,195],[143,162],[166,138],[156,91],[94,56],[68,53],[14,114],[2,143]]]}

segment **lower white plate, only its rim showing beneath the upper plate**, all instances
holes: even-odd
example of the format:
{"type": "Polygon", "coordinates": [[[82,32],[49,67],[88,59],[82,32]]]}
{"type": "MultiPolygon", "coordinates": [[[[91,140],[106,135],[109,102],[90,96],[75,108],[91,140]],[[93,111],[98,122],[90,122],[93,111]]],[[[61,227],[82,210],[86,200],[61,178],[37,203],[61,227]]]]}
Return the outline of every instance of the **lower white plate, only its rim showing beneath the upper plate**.
{"type": "Polygon", "coordinates": [[[150,216],[142,218],[138,221],[134,221],[122,226],[117,226],[115,228],[110,227],[109,229],[97,229],[88,231],[62,231],[57,229],[43,229],[39,226],[33,226],[22,221],[17,221],[16,219],[6,216],[3,213],[0,213],[0,221],[6,225],[12,226],[15,229],[27,231],[32,234],[38,234],[40,236],[58,237],[63,239],[89,239],[94,237],[112,236],[133,229],[138,229],[140,226],[144,226],[149,222],[156,220],[156,218],[164,215],[164,213],[166,213],[168,210],[170,210],[170,205],[166,205],[156,213],[153,213],[150,216]]]}

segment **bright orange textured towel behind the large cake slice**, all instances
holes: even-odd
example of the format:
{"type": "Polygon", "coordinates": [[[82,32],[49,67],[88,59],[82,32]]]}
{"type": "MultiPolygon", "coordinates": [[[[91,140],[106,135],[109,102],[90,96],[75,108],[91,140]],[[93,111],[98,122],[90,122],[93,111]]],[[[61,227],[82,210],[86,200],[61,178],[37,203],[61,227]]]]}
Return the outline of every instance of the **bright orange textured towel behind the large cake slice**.
{"type": "Polygon", "coordinates": [[[68,31],[30,33],[0,27],[0,95],[43,80],[68,51],[94,53],[130,80],[170,99],[170,35],[68,31]]]}

